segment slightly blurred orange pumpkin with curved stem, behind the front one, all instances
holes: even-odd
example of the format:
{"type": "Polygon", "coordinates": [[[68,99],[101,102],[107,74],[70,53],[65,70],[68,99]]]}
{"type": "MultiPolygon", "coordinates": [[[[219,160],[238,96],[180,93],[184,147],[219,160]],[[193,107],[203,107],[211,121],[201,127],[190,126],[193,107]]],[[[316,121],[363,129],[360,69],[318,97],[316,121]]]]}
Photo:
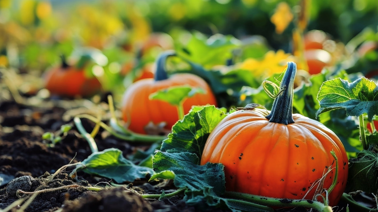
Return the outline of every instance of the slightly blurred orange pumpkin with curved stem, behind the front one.
{"type": "Polygon", "coordinates": [[[187,98],[183,104],[184,113],[188,113],[191,106],[215,105],[216,98],[210,86],[204,79],[193,74],[174,74],[170,77],[165,72],[165,60],[175,55],[172,51],[163,52],[157,60],[155,78],[145,78],[131,84],[123,95],[122,117],[128,123],[128,129],[133,132],[147,134],[145,126],[150,122],[157,125],[165,123],[164,129],[171,130],[178,118],[177,108],[167,102],[150,100],[150,94],[168,89],[173,86],[189,85],[193,88],[201,88],[204,94],[197,93],[187,98]]]}

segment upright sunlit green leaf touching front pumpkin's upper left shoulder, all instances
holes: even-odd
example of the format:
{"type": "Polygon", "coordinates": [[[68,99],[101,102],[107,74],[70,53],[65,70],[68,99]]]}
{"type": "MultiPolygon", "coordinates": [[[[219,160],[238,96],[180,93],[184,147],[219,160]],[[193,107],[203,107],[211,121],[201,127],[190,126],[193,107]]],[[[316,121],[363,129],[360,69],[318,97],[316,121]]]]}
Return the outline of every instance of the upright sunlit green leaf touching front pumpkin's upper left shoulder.
{"type": "Polygon", "coordinates": [[[226,114],[215,106],[204,106],[201,110],[189,111],[184,119],[172,127],[172,133],[163,141],[161,151],[174,150],[195,153],[199,158],[207,137],[226,114]]]}

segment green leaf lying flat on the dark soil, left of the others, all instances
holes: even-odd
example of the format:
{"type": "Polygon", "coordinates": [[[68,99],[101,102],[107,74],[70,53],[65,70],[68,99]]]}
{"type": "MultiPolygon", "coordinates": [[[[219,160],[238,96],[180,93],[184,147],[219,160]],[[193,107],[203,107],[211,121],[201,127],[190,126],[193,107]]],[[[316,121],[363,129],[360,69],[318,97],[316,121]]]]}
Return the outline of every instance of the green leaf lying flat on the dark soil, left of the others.
{"type": "Polygon", "coordinates": [[[153,174],[151,168],[133,164],[122,155],[122,151],[114,148],[94,152],[76,168],[78,169],[113,179],[118,183],[134,182],[145,178],[147,174],[153,174]]]}

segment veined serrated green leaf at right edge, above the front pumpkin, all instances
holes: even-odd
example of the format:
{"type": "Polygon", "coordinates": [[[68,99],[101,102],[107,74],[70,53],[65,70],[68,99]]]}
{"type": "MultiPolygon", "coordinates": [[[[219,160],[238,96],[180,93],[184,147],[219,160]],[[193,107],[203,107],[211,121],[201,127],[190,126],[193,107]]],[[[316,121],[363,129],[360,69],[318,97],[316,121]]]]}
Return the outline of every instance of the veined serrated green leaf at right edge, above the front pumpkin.
{"type": "Polygon", "coordinates": [[[341,78],[328,80],[320,87],[317,100],[320,108],[316,116],[339,108],[345,109],[347,116],[367,113],[369,121],[378,114],[378,87],[365,77],[352,83],[341,78]]]}

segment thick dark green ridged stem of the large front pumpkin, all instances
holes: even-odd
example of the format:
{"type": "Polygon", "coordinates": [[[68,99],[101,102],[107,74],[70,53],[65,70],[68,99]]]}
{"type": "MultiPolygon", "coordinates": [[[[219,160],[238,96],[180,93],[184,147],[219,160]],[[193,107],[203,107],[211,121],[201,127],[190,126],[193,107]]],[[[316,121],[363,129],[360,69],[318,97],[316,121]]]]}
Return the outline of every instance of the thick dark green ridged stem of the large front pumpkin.
{"type": "Polygon", "coordinates": [[[293,119],[294,78],[297,73],[297,64],[287,62],[286,72],[280,84],[280,93],[273,102],[272,110],[266,117],[269,122],[290,124],[293,119]]]}

